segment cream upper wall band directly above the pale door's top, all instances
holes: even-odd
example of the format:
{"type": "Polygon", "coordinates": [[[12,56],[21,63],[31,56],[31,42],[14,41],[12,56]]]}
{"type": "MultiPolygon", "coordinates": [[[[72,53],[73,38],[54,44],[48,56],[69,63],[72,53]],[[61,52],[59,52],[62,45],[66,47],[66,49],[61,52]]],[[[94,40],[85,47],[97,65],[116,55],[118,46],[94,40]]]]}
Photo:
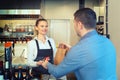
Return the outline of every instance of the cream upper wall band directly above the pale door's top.
{"type": "Polygon", "coordinates": [[[46,0],[44,2],[47,19],[73,19],[73,13],[78,9],[79,0],[46,0]]]}

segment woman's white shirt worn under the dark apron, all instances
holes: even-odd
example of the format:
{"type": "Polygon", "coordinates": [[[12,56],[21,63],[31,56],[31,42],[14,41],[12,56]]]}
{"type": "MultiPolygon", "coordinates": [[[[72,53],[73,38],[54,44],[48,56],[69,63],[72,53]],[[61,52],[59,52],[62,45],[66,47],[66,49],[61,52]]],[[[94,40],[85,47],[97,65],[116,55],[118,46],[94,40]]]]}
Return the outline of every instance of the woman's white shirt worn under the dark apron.
{"type": "MultiPolygon", "coordinates": [[[[27,56],[27,60],[28,60],[28,65],[29,66],[32,66],[32,67],[35,67],[37,66],[36,65],[36,61],[34,61],[34,59],[36,58],[37,56],[37,45],[36,45],[36,42],[35,42],[35,39],[37,39],[37,37],[35,37],[33,40],[29,41],[28,42],[28,56],[27,56]]],[[[38,40],[38,45],[39,45],[39,48],[40,49],[50,49],[50,45],[48,43],[48,40],[50,41],[51,43],[51,46],[52,46],[52,49],[53,49],[53,56],[55,57],[55,54],[56,54],[56,46],[55,46],[55,42],[52,38],[48,38],[46,36],[46,41],[45,43],[43,43],[41,40],[38,40]]]]}

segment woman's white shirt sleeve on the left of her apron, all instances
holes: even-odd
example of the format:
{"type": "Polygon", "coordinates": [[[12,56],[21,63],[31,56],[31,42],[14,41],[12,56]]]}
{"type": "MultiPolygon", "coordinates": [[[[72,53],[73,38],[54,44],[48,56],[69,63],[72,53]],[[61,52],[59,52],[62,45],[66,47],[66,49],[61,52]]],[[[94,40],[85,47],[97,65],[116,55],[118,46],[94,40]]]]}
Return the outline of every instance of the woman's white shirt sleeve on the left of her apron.
{"type": "Polygon", "coordinates": [[[36,53],[36,49],[35,49],[35,43],[34,43],[34,41],[32,40],[32,41],[30,41],[30,42],[28,42],[28,44],[27,44],[27,64],[29,65],[29,66],[32,66],[32,67],[34,67],[34,66],[37,66],[36,65],[36,62],[34,61],[34,59],[35,59],[35,57],[36,57],[36,55],[35,55],[35,53],[36,53]]]}

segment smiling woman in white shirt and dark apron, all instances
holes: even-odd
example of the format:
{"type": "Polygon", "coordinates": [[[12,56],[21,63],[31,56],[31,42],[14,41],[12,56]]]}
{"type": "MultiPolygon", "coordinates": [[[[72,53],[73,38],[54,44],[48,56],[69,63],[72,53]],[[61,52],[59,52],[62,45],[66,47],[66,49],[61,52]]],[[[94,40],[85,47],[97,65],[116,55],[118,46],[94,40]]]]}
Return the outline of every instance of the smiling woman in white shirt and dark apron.
{"type": "MultiPolygon", "coordinates": [[[[28,42],[28,64],[32,67],[32,75],[42,78],[49,78],[49,72],[44,69],[41,64],[42,60],[49,57],[50,63],[53,63],[53,58],[56,53],[55,42],[52,38],[47,37],[48,22],[46,19],[38,19],[35,24],[37,36],[28,42]]],[[[47,79],[42,79],[47,80],[47,79]]]]}

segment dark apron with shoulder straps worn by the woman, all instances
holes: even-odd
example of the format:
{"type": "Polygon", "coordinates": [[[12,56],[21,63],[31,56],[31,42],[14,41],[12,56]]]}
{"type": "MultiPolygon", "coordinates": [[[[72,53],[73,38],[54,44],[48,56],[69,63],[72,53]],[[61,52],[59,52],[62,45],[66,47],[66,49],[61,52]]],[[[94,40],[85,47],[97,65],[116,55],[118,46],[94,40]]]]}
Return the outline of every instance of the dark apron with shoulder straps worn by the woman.
{"type": "MultiPolygon", "coordinates": [[[[38,41],[35,39],[36,45],[37,45],[37,57],[35,58],[34,61],[39,61],[44,59],[45,57],[50,57],[49,62],[53,64],[53,49],[51,46],[50,41],[48,40],[50,49],[40,49],[38,45],[38,41]]],[[[37,67],[32,67],[32,74],[33,76],[40,76],[42,74],[48,74],[48,70],[43,68],[42,66],[37,66],[37,67]]]]}

